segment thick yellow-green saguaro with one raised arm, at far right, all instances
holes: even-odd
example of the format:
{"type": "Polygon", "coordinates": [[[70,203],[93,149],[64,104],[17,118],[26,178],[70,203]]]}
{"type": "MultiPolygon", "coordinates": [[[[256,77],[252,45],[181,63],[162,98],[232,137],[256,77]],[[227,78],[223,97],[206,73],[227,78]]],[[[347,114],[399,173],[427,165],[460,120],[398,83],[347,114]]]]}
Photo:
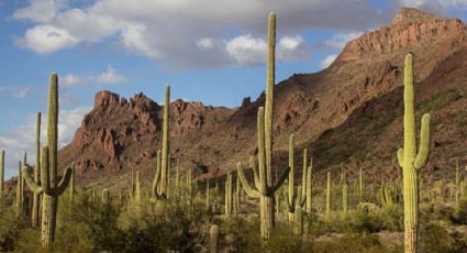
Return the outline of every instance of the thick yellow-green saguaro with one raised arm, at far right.
{"type": "Polygon", "coordinates": [[[419,228],[419,183],[418,173],[426,164],[430,154],[430,114],[422,117],[420,147],[416,151],[415,112],[413,88],[413,56],[405,56],[404,69],[404,117],[403,148],[398,151],[399,165],[403,174],[404,249],[405,253],[416,252],[419,228]]]}

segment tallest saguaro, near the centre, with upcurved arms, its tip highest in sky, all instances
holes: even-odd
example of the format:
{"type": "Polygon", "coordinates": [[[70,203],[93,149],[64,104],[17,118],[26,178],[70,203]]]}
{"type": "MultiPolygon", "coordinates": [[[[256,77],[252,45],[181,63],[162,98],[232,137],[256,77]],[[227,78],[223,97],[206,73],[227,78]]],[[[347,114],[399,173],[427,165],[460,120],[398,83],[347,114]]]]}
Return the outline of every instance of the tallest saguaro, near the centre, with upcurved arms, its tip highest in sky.
{"type": "Polygon", "coordinates": [[[270,230],[275,226],[274,199],[275,194],[286,180],[289,168],[273,184],[273,95],[275,85],[275,52],[276,50],[276,14],[269,13],[268,19],[268,61],[267,61],[267,87],[265,108],[258,110],[258,165],[259,174],[255,180],[257,189],[253,189],[238,163],[238,176],[243,188],[251,197],[259,198],[262,238],[269,239],[270,230]],[[266,112],[265,112],[266,111],[266,112]]]}

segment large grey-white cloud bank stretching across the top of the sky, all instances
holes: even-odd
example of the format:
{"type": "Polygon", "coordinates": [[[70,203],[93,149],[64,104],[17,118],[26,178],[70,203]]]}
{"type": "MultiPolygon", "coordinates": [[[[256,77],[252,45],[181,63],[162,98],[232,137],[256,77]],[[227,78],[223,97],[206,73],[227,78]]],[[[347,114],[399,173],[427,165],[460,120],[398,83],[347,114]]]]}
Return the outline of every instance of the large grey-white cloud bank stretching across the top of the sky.
{"type": "Polygon", "coordinates": [[[71,9],[66,4],[51,8],[54,14],[43,20],[33,18],[35,14],[21,14],[40,13],[36,10],[42,10],[45,3],[51,4],[52,0],[37,0],[43,2],[41,8],[35,1],[31,0],[29,7],[13,14],[15,19],[38,23],[19,40],[18,44],[25,48],[45,54],[116,40],[129,52],[176,68],[264,62],[259,55],[270,10],[278,13],[278,34],[290,35],[279,44],[282,61],[303,57],[305,42],[297,38],[305,30],[365,29],[385,23],[391,15],[379,12],[366,1],[347,4],[346,0],[226,0],[223,4],[216,0],[96,0],[85,8],[71,9]],[[231,31],[237,36],[229,40],[231,31]],[[229,52],[221,46],[224,41],[230,43],[229,52]],[[296,43],[300,47],[296,47],[296,43]]]}

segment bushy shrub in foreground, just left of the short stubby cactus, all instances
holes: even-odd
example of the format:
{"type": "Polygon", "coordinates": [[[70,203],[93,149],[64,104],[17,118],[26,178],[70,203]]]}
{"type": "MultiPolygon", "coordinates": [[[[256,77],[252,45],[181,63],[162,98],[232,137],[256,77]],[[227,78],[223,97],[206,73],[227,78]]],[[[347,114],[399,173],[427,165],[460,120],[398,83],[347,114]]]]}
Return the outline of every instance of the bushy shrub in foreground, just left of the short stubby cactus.
{"type": "Polygon", "coordinates": [[[120,218],[124,252],[197,252],[205,245],[210,216],[203,202],[185,199],[141,204],[120,218]]]}

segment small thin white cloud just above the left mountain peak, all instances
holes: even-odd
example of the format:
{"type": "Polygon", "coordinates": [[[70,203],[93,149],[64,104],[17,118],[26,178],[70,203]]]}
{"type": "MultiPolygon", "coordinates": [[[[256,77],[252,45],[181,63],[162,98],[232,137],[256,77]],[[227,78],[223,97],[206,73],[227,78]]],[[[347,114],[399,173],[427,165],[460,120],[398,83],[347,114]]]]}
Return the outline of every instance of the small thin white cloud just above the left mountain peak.
{"type": "Polygon", "coordinates": [[[100,73],[98,75],[76,75],[69,73],[60,78],[60,84],[64,87],[77,87],[88,85],[116,85],[125,81],[127,81],[127,78],[116,72],[116,69],[113,68],[110,64],[105,67],[105,70],[103,73],[100,73]]]}

